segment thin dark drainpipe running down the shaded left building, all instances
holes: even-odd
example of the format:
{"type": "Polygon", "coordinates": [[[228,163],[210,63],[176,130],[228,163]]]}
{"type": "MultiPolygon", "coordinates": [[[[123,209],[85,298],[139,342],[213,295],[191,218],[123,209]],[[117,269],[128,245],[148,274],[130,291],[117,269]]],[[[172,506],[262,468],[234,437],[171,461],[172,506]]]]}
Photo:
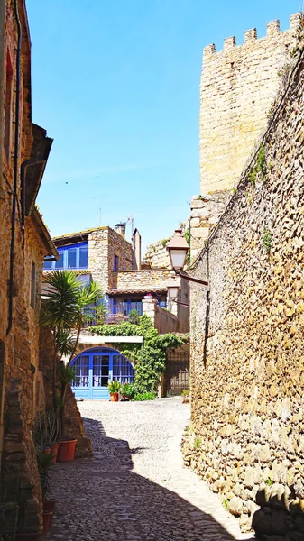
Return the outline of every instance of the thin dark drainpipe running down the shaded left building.
{"type": "Polygon", "coordinates": [[[18,13],[18,0],[14,0],[14,13],[17,23],[18,41],[16,50],[16,101],[14,115],[14,188],[13,188],[13,206],[12,206],[12,236],[10,252],[10,277],[8,287],[8,326],[6,336],[9,335],[13,324],[13,297],[14,297],[14,236],[15,236],[15,216],[17,207],[17,186],[18,186],[18,156],[19,156],[19,110],[20,110],[20,59],[21,59],[21,41],[22,30],[18,13]]]}

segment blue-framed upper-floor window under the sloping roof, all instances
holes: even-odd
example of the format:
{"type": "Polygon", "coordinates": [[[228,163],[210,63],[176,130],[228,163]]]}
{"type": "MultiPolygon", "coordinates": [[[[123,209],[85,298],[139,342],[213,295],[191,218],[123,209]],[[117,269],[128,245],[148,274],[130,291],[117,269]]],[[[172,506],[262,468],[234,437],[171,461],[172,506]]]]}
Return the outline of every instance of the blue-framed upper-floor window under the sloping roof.
{"type": "Polygon", "coordinates": [[[44,260],[44,271],[54,269],[88,269],[88,243],[70,244],[58,248],[58,261],[44,260]]]}

